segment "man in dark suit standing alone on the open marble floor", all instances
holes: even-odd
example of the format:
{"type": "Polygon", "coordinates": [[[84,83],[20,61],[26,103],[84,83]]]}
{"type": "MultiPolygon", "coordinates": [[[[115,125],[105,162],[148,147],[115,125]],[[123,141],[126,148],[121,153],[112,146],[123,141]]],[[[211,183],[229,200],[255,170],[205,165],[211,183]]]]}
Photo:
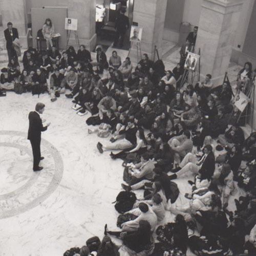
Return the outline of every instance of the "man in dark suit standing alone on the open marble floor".
{"type": "Polygon", "coordinates": [[[41,143],[41,132],[44,132],[49,127],[50,123],[46,126],[42,125],[40,114],[45,111],[45,104],[38,102],[35,106],[35,111],[29,113],[29,131],[28,140],[30,140],[32,151],[33,151],[33,170],[37,172],[43,167],[39,166],[40,160],[44,159],[41,157],[40,143],[41,143]]]}

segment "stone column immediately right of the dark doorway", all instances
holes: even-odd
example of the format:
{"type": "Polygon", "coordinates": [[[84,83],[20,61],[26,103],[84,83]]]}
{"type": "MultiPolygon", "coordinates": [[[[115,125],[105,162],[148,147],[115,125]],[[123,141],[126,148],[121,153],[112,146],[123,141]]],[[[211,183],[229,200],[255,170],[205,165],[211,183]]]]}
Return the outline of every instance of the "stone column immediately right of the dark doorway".
{"type": "MultiPolygon", "coordinates": [[[[162,39],[167,0],[137,0],[134,2],[133,22],[143,28],[141,51],[153,58],[157,46],[162,56],[162,39]]],[[[132,49],[132,56],[137,56],[136,49],[132,49]]]]}

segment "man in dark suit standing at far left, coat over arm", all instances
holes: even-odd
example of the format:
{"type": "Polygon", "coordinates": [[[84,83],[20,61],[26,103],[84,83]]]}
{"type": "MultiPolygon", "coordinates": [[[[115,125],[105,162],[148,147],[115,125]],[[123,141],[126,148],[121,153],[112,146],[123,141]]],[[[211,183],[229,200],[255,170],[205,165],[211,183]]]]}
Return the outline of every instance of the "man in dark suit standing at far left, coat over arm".
{"type": "Polygon", "coordinates": [[[14,47],[12,45],[12,42],[18,38],[18,30],[16,28],[12,27],[12,23],[7,23],[7,29],[4,31],[5,33],[5,39],[6,39],[6,49],[8,53],[8,59],[9,63],[11,62],[12,58],[18,59],[16,51],[14,50],[14,47]]]}

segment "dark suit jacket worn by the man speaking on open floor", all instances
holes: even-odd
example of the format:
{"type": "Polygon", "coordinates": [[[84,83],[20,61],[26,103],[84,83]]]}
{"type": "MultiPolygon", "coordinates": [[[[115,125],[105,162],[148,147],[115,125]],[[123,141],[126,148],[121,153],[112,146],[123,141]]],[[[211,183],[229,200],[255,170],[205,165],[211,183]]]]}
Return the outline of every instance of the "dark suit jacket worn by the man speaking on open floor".
{"type": "Polygon", "coordinates": [[[47,130],[47,126],[42,125],[42,120],[39,114],[35,111],[29,113],[29,131],[28,140],[40,140],[41,132],[47,130]]]}

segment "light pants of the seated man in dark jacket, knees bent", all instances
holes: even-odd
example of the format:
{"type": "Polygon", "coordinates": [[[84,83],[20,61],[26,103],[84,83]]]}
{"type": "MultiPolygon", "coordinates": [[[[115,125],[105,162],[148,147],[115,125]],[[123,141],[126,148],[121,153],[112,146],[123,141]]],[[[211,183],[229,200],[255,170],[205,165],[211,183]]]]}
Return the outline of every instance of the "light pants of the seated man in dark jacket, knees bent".
{"type": "Polygon", "coordinates": [[[181,177],[185,174],[190,175],[191,173],[198,174],[200,166],[198,166],[196,162],[196,156],[191,153],[187,153],[180,163],[181,169],[176,173],[177,177],[181,177]]]}

